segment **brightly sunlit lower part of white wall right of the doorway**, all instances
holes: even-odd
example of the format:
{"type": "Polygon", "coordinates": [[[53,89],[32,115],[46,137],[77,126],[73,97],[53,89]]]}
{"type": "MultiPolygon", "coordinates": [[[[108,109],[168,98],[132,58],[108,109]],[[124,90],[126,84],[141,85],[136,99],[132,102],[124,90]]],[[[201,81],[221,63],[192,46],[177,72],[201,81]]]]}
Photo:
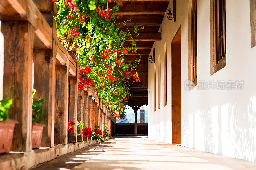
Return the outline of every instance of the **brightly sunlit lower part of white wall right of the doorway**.
{"type": "Polygon", "coordinates": [[[247,107],[237,102],[182,113],[182,145],[256,162],[256,96],[247,107]]]}

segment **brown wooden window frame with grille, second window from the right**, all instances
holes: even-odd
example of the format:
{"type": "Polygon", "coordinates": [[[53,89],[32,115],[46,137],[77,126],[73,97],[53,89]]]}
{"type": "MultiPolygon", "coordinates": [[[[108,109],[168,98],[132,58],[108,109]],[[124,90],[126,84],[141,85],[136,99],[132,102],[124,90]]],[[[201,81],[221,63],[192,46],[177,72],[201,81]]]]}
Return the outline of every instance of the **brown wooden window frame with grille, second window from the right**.
{"type": "Polygon", "coordinates": [[[210,75],[216,73],[217,71],[224,68],[226,64],[226,0],[223,0],[223,12],[224,22],[223,27],[223,48],[225,56],[220,59],[220,46],[218,37],[219,34],[219,1],[218,0],[210,0],[210,75]]]}

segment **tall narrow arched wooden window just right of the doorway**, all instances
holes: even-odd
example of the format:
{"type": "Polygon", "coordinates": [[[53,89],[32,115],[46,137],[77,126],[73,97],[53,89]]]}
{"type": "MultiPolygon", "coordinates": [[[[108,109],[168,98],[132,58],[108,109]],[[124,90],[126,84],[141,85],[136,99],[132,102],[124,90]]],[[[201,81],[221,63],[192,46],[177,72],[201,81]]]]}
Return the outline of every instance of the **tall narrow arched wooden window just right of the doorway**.
{"type": "Polygon", "coordinates": [[[197,0],[189,0],[188,10],[188,79],[197,85],[197,0]]]}

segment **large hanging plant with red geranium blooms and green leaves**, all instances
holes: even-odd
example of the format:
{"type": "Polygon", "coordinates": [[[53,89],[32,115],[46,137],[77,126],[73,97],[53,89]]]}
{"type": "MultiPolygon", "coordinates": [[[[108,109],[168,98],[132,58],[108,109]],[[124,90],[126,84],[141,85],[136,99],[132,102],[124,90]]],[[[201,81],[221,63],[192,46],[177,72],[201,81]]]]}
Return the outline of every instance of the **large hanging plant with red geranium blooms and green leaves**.
{"type": "MultiPolygon", "coordinates": [[[[94,85],[98,98],[108,110],[112,109],[116,118],[124,118],[124,108],[131,97],[128,79],[140,80],[136,73],[140,59],[124,62],[125,55],[131,50],[135,53],[137,48],[131,33],[120,31],[114,22],[113,13],[119,6],[110,9],[107,0],[53,1],[58,9],[55,19],[59,40],[79,62],[78,89],[94,85]],[[127,37],[132,40],[132,47],[126,48],[127,37]]],[[[125,22],[122,24],[126,26],[125,22]]],[[[134,29],[137,33],[138,27],[134,29]]]]}

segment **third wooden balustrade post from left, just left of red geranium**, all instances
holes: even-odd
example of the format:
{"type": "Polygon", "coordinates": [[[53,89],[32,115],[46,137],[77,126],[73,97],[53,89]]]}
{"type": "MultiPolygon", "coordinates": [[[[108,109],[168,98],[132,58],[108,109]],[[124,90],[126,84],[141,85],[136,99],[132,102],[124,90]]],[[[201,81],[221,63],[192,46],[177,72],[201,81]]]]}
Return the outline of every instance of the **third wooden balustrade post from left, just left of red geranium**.
{"type": "Polygon", "coordinates": [[[68,67],[56,67],[54,143],[67,144],[68,67]]]}

